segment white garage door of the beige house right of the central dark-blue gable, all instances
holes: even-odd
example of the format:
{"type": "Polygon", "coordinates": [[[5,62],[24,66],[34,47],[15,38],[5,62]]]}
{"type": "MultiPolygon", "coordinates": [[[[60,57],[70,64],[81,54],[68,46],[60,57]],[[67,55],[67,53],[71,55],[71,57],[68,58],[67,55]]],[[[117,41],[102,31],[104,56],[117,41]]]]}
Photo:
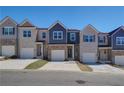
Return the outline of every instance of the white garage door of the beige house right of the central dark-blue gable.
{"type": "Polygon", "coordinates": [[[83,53],[82,61],[84,63],[96,63],[97,62],[96,53],[83,53]]]}

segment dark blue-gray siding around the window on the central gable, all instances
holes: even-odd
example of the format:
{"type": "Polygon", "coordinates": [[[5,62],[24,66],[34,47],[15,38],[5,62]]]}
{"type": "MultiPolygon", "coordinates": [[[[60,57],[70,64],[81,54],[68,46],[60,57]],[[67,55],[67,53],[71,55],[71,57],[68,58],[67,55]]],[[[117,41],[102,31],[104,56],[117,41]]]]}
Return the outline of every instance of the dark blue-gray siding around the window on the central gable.
{"type": "Polygon", "coordinates": [[[65,44],[66,43],[66,29],[57,23],[49,30],[49,43],[50,44],[65,44]],[[53,40],[53,31],[63,31],[63,40],[53,40]]]}

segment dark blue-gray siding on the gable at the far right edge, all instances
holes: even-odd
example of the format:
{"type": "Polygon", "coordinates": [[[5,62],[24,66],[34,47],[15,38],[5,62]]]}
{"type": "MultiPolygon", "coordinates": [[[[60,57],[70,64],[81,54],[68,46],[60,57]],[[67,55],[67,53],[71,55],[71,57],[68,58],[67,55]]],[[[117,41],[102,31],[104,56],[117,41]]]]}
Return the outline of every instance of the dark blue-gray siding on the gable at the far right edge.
{"type": "Polygon", "coordinates": [[[120,29],[116,34],[113,35],[112,37],[112,49],[113,50],[124,50],[124,45],[116,45],[116,37],[124,37],[124,30],[120,29]]]}

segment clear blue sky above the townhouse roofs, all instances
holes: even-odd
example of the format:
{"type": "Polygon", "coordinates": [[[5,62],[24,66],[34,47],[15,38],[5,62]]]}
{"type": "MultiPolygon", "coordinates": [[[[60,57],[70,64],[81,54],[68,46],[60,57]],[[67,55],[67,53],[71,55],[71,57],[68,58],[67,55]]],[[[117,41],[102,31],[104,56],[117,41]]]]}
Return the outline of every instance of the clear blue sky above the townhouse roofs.
{"type": "Polygon", "coordinates": [[[41,28],[49,27],[56,20],[67,28],[79,30],[91,24],[100,32],[110,32],[124,25],[124,7],[121,6],[1,6],[0,20],[6,16],[17,23],[28,18],[41,28]]]}

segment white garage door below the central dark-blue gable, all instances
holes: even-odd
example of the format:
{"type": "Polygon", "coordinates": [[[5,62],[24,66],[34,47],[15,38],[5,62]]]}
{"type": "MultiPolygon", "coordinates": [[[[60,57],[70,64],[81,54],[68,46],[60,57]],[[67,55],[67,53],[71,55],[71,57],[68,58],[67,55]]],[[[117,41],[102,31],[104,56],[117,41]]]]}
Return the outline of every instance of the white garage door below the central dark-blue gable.
{"type": "Polygon", "coordinates": [[[64,50],[52,50],[51,51],[51,60],[52,61],[65,60],[65,51],[64,50]]]}

